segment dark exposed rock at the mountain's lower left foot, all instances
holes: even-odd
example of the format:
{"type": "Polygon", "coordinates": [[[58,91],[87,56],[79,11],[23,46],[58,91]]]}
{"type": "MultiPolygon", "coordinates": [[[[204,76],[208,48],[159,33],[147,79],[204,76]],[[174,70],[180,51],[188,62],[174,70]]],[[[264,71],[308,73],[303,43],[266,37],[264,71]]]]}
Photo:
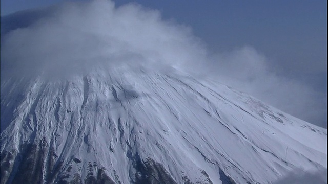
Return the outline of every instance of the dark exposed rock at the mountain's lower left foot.
{"type": "MultiPolygon", "coordinates": [[[[75,163],[81,163],[78,158],[74,158],[75,163]]],[[[88,175],[85,184],[115,184],[106,175],[105,168],[101,167],[94,176],[94,167],[97,163],[88,164],[88,175]]],[[[1,153],[0,163],[1,184],[5,183],[57,183],[57,184],[80,184],[83,183],[78,173],[74,174],[73,180],[67,181],[71,176],[72,166],[63,170],[63,162],[57,160],[57,155],[53,149],[49,150],[49,145],[45,140],[40,140],[38,144],[26,144],[16,158],[11,152],[1,153]],[[46,154],[47,153],[47,154],[46,154]],[[15,165],[16,170],[13,170],[15,165]],[[59,171],[63,172],[59,174],[59,171]]],[[[117,175],[116,175],[117,176],[117,175]]],[[[116,177],[115,176],[115,177],[116,177]]],[[[118,179],[118,176],[117,176],[118,179]]]]}

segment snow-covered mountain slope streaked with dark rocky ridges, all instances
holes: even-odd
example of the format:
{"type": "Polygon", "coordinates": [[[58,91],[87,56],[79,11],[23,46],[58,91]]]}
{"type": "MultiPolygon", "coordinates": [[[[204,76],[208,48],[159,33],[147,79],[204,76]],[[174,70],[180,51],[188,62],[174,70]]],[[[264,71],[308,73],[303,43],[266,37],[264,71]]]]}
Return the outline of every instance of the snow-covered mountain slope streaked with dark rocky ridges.
{"type": "Polygon", "coordinates": [[[271,183],[327,168],[327,131],[144,67],[1,80],[1,183],[271,183]]]}

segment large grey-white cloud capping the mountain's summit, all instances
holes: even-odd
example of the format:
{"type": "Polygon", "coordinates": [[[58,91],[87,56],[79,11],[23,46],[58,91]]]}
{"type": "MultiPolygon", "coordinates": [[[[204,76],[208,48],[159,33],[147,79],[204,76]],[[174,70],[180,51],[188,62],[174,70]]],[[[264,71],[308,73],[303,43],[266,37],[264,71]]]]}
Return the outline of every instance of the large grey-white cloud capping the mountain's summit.
{"type": "Polygon", "coordinates": [[[179,67],[206,58],[188,28],[162,21],[159,12],[138,5],[115,9],[109,1],[65,3],[49,11],[4,38],[2,61],[15,63],[18,75],[42,70],[51,77],[67,76],[99,64],[158,69],[158,64],[179,67]]]}

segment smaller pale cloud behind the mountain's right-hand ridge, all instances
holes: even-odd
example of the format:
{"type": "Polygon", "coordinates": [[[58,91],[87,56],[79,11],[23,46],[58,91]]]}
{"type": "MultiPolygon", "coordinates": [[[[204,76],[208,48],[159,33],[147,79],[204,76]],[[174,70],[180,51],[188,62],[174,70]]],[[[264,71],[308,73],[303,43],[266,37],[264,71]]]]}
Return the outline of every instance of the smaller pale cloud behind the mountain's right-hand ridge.
{"type": "Polygon", "coordinates": [[[212,59],[211,72],[234,88],[310,123],[326,127],[327,97],[297,80],[277,75],[268,59],[244,47],[212,59]]]}

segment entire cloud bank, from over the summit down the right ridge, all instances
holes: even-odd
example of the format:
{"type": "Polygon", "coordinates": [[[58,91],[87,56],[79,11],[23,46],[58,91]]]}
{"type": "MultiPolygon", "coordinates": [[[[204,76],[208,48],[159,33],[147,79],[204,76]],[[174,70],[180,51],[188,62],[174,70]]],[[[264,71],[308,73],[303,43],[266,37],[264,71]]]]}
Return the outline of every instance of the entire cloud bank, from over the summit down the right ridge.
{"type": "Polygon", "coordinates": [[[254,48],[210,55],[191,28],[137,4],[115,7],[99,0],[53,7],[30,26],[2,35],[1,63],[10,75],[46,71],[51,77],[84,73],[99,64],[171,65],[214,77],[311,123],[326,122],[326,96],[275,75],[254,48]]]}

